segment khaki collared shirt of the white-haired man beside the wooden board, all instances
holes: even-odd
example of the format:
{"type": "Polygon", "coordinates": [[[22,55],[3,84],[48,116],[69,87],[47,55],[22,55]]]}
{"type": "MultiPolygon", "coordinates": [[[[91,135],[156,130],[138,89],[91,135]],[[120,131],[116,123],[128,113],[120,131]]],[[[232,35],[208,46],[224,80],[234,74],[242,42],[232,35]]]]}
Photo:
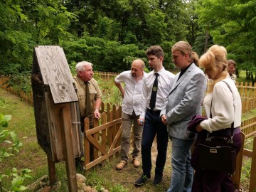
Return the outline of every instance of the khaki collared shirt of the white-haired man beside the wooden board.
{"type": "MultiPolygon", "coordinates": [[[[82,81],[77,76],[73,77],[75,82],[75,87],[77,89],[77,95],[78,95],[78,102],[79,102],[79,109],[80,109],[80,117],[85,117],[85,82],[82,81]]],[[[90,91],[90,100],[92,105],[92,112],[94,109],[94,101],[102,97],[102,93],[100,91],[100,87],[97,84],[97,81],[92,78],[89,81],[89,91],[90,91]]]]}

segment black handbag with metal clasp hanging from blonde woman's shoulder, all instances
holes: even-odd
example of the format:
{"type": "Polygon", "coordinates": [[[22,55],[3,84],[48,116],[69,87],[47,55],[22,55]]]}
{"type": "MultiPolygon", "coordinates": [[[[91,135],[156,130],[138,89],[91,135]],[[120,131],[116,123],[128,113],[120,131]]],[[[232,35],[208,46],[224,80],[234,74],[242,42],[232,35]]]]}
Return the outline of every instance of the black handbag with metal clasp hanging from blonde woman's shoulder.
{"type": "MultiPolygon", "coordinates": [[[[230,89],[229,85],[228,88],[230,89]]],[[[210,118],[211,116],[210,112],[210,118]]],[[[192,154],[191,165],[193,168],[234,174],[236,146],[233,143],[233,132],[234,122],[228,129],[221,129],[213,133],[206,131],[200,133],[192,154]],[[227,130],[230,132],[223,134],[227,133],[227,130]]]]}

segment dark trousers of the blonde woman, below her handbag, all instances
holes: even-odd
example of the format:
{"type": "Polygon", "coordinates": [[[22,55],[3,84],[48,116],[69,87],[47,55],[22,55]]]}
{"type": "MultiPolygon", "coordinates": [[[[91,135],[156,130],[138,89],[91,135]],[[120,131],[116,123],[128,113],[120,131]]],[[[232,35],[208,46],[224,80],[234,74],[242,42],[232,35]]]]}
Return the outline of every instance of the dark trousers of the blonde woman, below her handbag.
{"type": "MultiPolygon", "coordinates": [[[[240,151],[241,136],[240,133],[234,134],[233,142],[238,147],[236,154],[240,151]]],[[[204,171],[196,169],[193,178],[192,192],[233,192],[233,181],[230,174],[217,171],[204,171]]]]}

